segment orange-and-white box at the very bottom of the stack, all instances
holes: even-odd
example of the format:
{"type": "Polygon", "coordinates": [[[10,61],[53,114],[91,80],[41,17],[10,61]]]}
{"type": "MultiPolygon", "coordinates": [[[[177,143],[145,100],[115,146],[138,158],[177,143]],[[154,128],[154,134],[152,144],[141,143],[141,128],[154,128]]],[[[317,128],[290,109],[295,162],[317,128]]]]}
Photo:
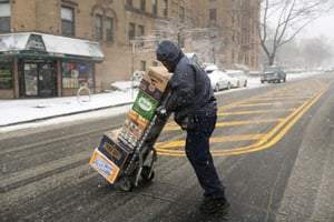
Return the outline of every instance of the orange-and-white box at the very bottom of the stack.
{"type": "Polygon", "coordinates": [[[104,153],[95,149],[89,164],[99,172],[104,178],[109,181],[109,183],[114,183],[119,173],[119,168],[112,163],[104,153]]]}

